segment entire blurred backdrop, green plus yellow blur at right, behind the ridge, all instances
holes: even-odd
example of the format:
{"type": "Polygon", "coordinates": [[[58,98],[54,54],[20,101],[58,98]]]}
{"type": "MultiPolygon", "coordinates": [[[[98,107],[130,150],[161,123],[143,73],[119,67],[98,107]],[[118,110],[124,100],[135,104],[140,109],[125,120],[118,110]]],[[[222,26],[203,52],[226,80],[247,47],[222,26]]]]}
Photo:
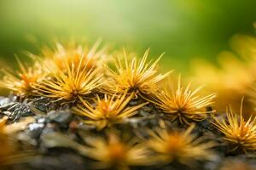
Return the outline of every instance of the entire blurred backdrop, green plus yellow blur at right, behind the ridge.
{"type": "Polygon", "coordinates": [[[227,105],[239,111],[245,97],[250,116],[256,114],[255,7],[255,0],[0,0],[0,66],[15,67],[15,55],[29,60],[27,51],[40,54],[57,41],[92,45],[102,38],[113,52],[150,48],[152,58],[165,52],[163,71],[206,85],[201,93],[218,94],[218,112],[227,105]]]}

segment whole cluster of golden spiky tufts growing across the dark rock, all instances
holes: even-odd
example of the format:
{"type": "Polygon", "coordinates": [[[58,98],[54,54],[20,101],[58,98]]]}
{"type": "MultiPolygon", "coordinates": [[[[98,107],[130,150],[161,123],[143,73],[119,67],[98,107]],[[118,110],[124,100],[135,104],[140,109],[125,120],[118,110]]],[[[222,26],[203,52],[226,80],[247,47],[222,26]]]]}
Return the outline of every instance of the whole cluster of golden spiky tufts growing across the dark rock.
{"type": "MultiPolygon", "coordinates": [[[[80,152],[95,160],[97,168],[211,161],[215,157],[212,147],[218,144],[193,133],[197,123],[206,120],[218,129],[230,151],[255,153],[255,118],[246,121],[231,109],[226,116],[219,116],[212,109],[216,94],[201,96],[202,87],[191,89],[191,83],[183,86],[181,77],[177,83],[169,80],[165,84],[172,71],[161,74],[161,56],[148,61],[148,50],[137,58],[125,50],[112,56],[104,48],[98,50],[98,46],[99,42],[92,48],[57,44],[55,50],[44,49],[41,55],[33,55],[32,66],[18,59],[20,71],[4,70],[0,85],[20,100],[43,96],[68,105],[73,114],[81,117],[80,123],[93,126],[98,132],[108,129],[105,136],[85,136],[85,144],[79,144],[79,150],[83,150],[80,152]],[[139,104],[131,105],[132,100],[139,100],[139,104]],[[146,105],[157,108],[159,127],[147,127],[146,137],[125,140],[121,135],[125,132],[114,125],[137,117],[146,105]],[[183,130],[170,129],[166,122],[177,122],[183,130]]],[[[4,153],[1,150],[0,156],[4,153]]]]}

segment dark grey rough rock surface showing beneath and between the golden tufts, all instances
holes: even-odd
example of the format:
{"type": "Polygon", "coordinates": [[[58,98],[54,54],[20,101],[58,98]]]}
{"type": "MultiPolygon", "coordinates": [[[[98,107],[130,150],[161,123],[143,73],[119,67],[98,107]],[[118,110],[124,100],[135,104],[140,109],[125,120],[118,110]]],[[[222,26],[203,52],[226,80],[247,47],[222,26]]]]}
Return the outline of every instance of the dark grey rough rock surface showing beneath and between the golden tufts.
{"type": "MultiPolygon", "coordinates": [[[[138,105],[142,100],[132,100],[129,105],[138,105]]],[[[35,121],[30,123],[26,129],[17,134],[20,144],[31,145],[37,150],[38,156],[26,163],[19,163],[7,167],[14,170],[84,170],[93,169],[92,161],[87,159],[76,150],[76,144],[83,144],[81,133],[96,133],[105,135],[105,129],[98,132],[96,127],[84,124],[80,116],[73,115],[70,105],[60,105],[58,102],[47,98],[27,99],[19,102],[13,98],[0,98],[0,116],[9,116],[9,123],[17,122],[21,117],[34,116],[35,121]],[[63,134],[67,138],[61,139],[56,134],[63,134]],[[75,141],[75,142],[74,142],[75,141]]],[[[148,138],[145,129],[160,126],[160,121],[165,122],[168,128],[183,128],[178,122],[170,122],[164,114],[154,105],[148,104],[123,123],[113,125],[121,132],[129,132],[131,136],[148,138]]],[[[256,166],[255,157],[248,158],[241,154],[230,155],[227,144],[220,144],[220,137],[216,129],[210,123],[212,120],[205,120],[197,123],[194,133],[219,143],[214,150],[218,153],[215,161],[195,162],[189,167],[176,161],[168,165],[131,167],[131,169],[146,170],[217,170],[223,166],[224,160],[235,159],[239,156],[250,165],[256,166]]],[[[239,159],[239,158],[238,158],[239,159]]],[[[254,168],[253,167],[253,168],[254,168]]]]}

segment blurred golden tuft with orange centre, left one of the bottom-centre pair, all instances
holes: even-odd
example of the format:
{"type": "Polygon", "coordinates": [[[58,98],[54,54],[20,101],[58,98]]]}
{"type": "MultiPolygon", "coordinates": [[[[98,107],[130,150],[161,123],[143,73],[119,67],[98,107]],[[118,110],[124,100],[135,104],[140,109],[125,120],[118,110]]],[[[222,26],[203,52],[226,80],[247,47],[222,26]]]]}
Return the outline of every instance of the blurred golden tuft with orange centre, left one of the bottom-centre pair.
{"type": "Polygon", "coordinates": [[[129,166],[147,165],[148,150],[137,139],[125,139],[118,133],[110,132],[107,138],[90,137],[87,156],[97,161],[95,167],[110,169],[129,169],[129,166]]]}

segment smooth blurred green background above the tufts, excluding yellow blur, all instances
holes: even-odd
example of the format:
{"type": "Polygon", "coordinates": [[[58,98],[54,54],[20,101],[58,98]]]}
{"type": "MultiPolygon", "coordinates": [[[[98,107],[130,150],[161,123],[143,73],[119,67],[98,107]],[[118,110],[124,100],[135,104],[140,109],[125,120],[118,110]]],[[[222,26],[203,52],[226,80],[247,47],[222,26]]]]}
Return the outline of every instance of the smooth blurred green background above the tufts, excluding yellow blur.
{"type": "Polygon", "coordinates": [[[186,72],[189,60],[215,61],[237,33],[254,35],[255,0],[1,0],[0,59],[38,53],[56,39],[166,52],[164,68],[186,72]]]}

